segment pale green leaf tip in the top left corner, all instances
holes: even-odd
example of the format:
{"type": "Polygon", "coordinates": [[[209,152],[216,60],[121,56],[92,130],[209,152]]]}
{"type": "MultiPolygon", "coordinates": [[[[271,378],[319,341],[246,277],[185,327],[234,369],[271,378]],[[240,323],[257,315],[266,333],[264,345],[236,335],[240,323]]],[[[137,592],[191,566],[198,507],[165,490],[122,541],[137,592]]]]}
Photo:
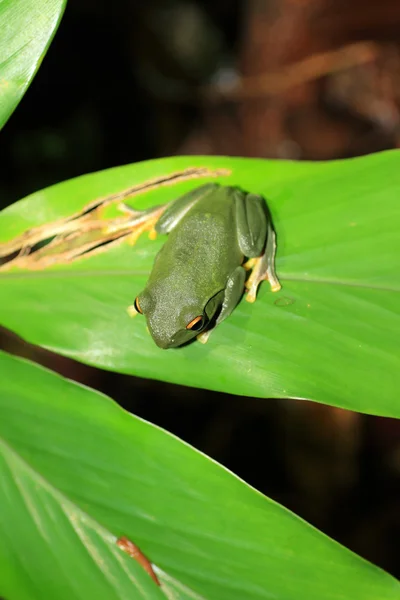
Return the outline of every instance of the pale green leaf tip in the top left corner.
{"type": "Polygon", "coordinates": [[[25,94],[66,0],[0,1],[0,129],[25,94]]]}

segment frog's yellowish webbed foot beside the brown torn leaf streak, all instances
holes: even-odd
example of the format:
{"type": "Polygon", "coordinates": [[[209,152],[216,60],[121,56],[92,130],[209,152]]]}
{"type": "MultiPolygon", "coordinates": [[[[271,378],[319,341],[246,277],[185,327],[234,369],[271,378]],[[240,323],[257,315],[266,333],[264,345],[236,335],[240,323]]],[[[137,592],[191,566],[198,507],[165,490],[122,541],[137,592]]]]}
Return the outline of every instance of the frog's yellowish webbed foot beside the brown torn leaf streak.
{"type": "Polygon", "coordinates": [[[128,234],[128,243],[131,246],[136,244],[138,238],[145,231],[148,231],[149,238],[154,240],[157,237],[155,226],[167,206],[167,204],[163,204],[161,206],[149,208],[148,210],[135,210],[123,202],[120,202],[117,205],[117,209],[123,213],[123,216],[114,219],[112,223],[107,225],[106,232],[121,232],[121,235],[126,232],[128,234]]]}

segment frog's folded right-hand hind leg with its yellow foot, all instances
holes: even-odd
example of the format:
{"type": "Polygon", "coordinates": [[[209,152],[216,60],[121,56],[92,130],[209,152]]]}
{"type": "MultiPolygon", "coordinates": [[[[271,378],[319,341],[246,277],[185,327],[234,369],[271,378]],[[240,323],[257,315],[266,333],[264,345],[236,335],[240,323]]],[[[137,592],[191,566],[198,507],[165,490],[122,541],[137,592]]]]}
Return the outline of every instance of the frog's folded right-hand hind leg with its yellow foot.
{"type": "Polygon", "coordinates": [[[261,196],[235,193],[235,212],[239,247],[250,260],[243,265],[253,269],[246,281],[246,300],[254,302],[257,288],[268,280],[273,292],[281,289],[275,273],[276,237],[271,218],[261,196]]]}

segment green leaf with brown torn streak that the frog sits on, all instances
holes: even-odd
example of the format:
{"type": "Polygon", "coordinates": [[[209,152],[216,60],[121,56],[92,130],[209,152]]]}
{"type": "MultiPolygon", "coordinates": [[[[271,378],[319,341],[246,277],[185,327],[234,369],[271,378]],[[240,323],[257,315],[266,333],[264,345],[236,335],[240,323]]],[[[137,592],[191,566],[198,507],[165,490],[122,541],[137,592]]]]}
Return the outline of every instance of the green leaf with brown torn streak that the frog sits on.
{"type": "MultiPolygon", "coordinates": [[[[231,170],[219,177],[221,183],[268,200],[282,290],[271,293],[262,284],[257,301],[243,300],[206,345],[160,350],[145,320],[126,313],[165,239],[143,235],[134,247],[123,241],[42,270],[29,257],[25,268],[4,265],[1,324],[29,342],[97,367],[399,417],[399,156],[394,151],[326,163],[169,158],[40,191],[0,213],[4,242],[154,177],[189,167],[231,170]]],[[[162,204],[210,179],[158,187],[130,203],[162,204]]]]}

